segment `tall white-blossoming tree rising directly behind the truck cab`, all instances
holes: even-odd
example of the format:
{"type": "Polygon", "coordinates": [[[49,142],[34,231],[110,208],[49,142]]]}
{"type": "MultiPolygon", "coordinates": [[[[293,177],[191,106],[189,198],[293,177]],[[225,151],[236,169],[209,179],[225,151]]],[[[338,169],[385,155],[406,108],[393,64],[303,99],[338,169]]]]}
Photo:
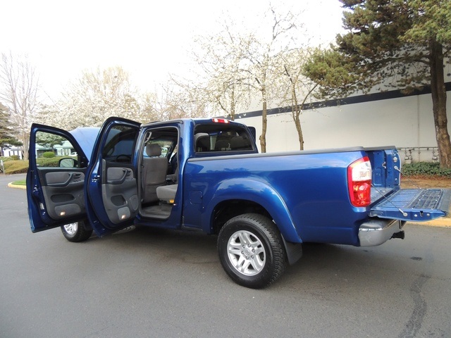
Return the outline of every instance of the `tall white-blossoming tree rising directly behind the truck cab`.
{"type": "Polygon", "coordinates": [[[194,54],[194,61],[203,73],[194,83],[204,93],[202,99],[234,119],[239,108],[247,108],[250,98],[258,96],[262,104],[262,152],[266,152],[268,103],[283,92],[278,56],[293,47],[295,20],[290,11],[280,14],[271,6],[256,30],[236,30],[227,19],[221,32],[197,39],[201,52],[194,54]]]}

